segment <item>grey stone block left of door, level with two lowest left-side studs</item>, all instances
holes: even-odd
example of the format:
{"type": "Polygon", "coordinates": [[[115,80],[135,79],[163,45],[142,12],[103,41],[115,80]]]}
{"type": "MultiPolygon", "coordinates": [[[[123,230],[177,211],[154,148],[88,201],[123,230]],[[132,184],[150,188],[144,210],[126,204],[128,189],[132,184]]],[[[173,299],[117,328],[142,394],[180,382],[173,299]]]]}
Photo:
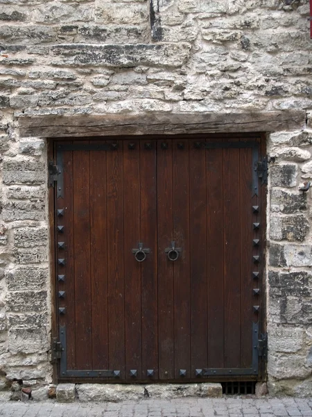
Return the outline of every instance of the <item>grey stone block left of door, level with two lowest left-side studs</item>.
{"type": "Polygon", "coordinates": [[[7,311],[27,313],[47,310],[46,291],[12,291],[6,295],[7,311]]]}

